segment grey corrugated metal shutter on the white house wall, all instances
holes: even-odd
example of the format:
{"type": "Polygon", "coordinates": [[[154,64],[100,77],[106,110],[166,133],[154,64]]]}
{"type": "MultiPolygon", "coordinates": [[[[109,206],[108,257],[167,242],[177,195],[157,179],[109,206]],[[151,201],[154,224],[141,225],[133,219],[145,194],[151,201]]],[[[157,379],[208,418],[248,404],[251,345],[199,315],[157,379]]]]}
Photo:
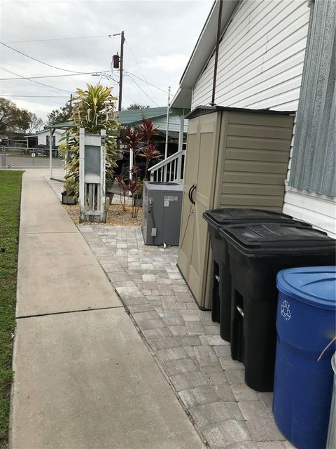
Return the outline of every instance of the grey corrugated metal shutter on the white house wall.
{"type": "Polygon", "coordinates": [[[307,48],[288,184],[335,196],[336,2],[311,2],[307,48]]]}

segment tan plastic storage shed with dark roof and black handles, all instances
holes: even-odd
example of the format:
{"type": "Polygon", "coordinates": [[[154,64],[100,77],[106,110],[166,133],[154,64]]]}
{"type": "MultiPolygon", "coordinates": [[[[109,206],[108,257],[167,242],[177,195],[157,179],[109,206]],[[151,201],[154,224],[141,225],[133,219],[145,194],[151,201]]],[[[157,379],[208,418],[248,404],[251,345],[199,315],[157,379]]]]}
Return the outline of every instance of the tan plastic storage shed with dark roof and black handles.
{"type": "Polygon", "coordinates": [[[211,249],[204,210],[281,212],[295,112],[197,107],[188,140],[178,267],[199,307],[211,309],[211,249]]]}

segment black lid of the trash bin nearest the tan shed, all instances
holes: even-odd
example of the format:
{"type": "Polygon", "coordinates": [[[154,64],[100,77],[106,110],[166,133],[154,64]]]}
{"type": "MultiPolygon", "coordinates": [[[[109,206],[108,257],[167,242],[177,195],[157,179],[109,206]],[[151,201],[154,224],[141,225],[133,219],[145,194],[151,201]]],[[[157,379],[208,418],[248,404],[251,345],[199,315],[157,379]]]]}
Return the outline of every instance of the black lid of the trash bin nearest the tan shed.
{"type": "Polygon", "coordinates": [[[245,208],[224,208],[211,209],[203,213],[203,218],[211,225],[220,227],[239,222],[269,222],[293,221],[292,217],[274,210],[245,209],[245,208]]]}

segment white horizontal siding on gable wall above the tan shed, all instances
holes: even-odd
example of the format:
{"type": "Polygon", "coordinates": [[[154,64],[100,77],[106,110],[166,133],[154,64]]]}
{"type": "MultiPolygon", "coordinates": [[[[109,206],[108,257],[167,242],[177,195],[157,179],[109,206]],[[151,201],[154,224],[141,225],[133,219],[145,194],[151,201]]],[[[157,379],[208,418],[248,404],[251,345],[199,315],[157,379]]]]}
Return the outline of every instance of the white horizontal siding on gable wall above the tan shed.
{"type": "MultiPolygon", "coordinates": [[[[244,0],[219,46],[217,105],[295,110],[307,40],[307,0],[244,0]]],[[[214,54],[193,89],[211,102],[214,54]]]]}

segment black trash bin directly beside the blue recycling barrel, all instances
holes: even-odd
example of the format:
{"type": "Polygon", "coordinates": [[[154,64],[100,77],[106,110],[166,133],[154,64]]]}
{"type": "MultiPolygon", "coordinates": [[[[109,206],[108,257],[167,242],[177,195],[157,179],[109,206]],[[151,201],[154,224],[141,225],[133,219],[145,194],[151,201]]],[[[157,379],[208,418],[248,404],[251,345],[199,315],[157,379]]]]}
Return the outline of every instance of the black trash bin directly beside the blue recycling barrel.
{"type": "Polygon", "coordinates": [[[272,391],[276,347],[276,274],[291,267],[335,264],[335,240],[300,224],[228,225],[231,355],[244,363],[245,382],[272,391]]]}

